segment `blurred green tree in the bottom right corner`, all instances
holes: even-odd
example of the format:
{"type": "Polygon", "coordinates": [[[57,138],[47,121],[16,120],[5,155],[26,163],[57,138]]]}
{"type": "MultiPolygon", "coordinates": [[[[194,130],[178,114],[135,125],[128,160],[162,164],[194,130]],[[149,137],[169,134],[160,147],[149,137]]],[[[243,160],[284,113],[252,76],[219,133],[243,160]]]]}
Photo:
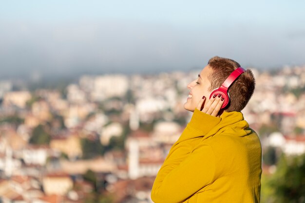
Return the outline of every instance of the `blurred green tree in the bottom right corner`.
{"type": "Polygon", "coordinates": [[[282,155],[270,186],[274,191],[273,203],[305,203],[305,154],[282,155]]]}

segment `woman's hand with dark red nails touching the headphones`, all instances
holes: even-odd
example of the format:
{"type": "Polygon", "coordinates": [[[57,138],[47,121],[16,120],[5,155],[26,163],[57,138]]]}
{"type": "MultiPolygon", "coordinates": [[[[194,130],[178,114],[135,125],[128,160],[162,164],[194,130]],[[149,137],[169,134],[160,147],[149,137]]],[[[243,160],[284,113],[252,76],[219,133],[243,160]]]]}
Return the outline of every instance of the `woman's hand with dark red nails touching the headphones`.
{"type": "Polygon", "coordinates": [[[199,111],[202,111],[202,112],[207,113],[209,115],[218,116],[218,113],[221,109],[221,106],[224,103],[224,99],[222,98],[221,94],[218,94],[218,95],[214,94],[210,98],[210,100],[208,101],[207,104],[205,104],[206,100],[207,100],[207,98],[205,96],[203,96],[202,99],[200,99],[196,108],[199,111]],[[203,104],[204,104],[204,107],[202,109],[203,104]]]}

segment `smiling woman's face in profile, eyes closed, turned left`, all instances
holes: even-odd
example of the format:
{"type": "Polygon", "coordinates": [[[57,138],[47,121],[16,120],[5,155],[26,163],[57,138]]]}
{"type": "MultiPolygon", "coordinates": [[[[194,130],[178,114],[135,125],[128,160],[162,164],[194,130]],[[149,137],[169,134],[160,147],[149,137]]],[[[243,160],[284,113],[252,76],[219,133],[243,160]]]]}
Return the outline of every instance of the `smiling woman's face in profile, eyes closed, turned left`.
{"type": "Polygon", "coordinates": [[[202,99],[203,96],[207,98],[205,103],[209,101],[210,92],[212,91],[210,91],[211,83],[208,79],[208,76],[212,73],[213,70],[210,68],[209,65],[207,65],[202,69],[202,71],[198,75],[198,78],[188,84],[187,87],[190,90],[190,93],[186,103],[184,104],[184,109],[194,112],[200,99],[202,99]]]}

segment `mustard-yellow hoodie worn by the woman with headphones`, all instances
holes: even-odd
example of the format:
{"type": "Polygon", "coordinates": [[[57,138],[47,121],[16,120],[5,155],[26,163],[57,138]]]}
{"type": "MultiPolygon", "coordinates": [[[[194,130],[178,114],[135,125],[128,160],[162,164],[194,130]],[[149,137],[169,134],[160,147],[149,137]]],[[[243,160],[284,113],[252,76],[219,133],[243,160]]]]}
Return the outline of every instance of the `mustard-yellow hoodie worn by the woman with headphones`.
{"type": "Polygon", "coordinates": [[[241,112],[195,109],[152,186],[154,203],[259,203],[262,148],[241,112]]]}

